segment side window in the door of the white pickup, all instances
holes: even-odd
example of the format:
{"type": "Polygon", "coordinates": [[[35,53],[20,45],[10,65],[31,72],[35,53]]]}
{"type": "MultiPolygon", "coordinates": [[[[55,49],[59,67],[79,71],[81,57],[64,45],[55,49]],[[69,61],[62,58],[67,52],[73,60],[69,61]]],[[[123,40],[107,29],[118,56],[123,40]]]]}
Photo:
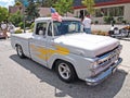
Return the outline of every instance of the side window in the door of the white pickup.
{"type": "Polygon", "coordinates": [[[46,35],[46,30],[47,30],[47,23],[46,22],[37,24],[37,26],[36,26],[36,35],[41,35],[41,34],[39,34],[39,33],[41,33],[41,30],[42,30],[42,34],[46,35]]]}

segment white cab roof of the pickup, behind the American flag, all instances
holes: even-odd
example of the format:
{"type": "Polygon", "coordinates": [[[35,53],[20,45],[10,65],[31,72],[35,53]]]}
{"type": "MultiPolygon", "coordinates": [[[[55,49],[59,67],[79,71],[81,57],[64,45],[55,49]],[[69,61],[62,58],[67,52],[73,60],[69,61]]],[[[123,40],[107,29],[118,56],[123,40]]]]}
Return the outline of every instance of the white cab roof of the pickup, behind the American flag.
{"type": "MultiPolygon", "coordinates": [[[[38,17],[35,21],[36,22],[41,22],[41,21],[51,21],[51,17],[38,17]]],[[[80,19],[76,19],[76,17],[62,17],[62,20],[67,20],[67,21],[80,21],[80,19]]]]}

